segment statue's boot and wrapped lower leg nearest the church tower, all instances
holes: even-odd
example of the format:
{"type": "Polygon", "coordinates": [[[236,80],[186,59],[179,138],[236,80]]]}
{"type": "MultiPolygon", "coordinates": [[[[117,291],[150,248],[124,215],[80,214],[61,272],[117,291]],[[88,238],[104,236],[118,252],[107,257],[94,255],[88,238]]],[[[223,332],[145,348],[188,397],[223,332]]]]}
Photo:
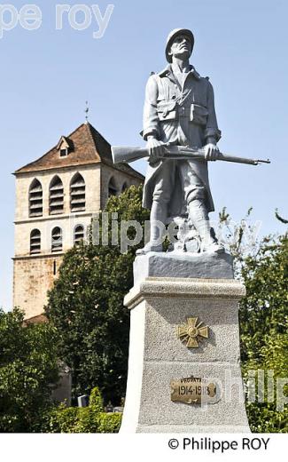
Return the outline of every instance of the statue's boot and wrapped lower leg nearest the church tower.
{"type": "Polygon", "coordinates": [[[145,255],[150,251],[162,251],[162,236],[167,221],[167,203],[153,201],[150,213],[150,241],[136,255],[145,255]]]}

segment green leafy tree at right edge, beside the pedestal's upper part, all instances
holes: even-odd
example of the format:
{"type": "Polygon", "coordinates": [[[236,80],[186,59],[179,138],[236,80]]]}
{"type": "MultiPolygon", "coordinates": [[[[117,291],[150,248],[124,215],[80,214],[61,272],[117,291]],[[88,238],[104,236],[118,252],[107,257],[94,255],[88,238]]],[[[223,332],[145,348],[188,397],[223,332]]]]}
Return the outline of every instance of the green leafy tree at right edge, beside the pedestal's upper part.
{"type": "Polygon", "coordinates": [[[239,312],[243,360],[259,359],[267,335],[287,334],[288,235],[264,238],[241,275],[247,291],[239,312]]]}

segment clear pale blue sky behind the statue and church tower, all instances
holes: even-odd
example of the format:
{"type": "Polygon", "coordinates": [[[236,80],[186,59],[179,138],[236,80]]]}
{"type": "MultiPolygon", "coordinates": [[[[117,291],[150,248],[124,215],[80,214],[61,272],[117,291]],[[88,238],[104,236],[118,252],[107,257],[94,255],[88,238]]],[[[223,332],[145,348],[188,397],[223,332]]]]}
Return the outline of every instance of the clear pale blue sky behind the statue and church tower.
{"type": "MultiPolygon", "coordinates": [[[[85,4],[96,3],[104,14],[108,1],[85,4]]],[[[11,4],[19,10],[25,2],[11,4]]],[[[261,167],[213,163],[216,211],[227,206],[241,219],[253,206],[262,235],[284,232],[274,211],[288,216],[286,0],[111,0],[113,13],[100,39],[92,36],[95,18],[90,28],[76,31],[64,16],[62,30],[55,30],[57,2],[34,4],[42,10],[42,26],[28,31],[18,25],[0,39],[0,306],[12,306],[12,171],[74,131],[84,121],[85,100],[90,123],[111,144],[141,145],[144,85],[152,70],[166,66],[172,28],[194,32],[191,62],[214,85],[222,152],[272,161],[261,167]]],[[[146,165],[136,168],[144,172],[146,165]]]]}

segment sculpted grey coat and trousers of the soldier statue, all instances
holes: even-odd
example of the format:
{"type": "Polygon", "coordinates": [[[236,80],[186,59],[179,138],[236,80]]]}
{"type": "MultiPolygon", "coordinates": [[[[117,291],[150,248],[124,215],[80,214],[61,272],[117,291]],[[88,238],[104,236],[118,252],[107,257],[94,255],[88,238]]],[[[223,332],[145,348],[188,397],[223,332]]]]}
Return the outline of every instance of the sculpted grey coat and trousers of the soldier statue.
{"type": "MultiPolygon", "coordinates": [[[[203,147],[207,139],[214,144],[221,138],[215,109],[214,91],[208,78],[199,76],[190,66],[183,81],[168,65],[150,76],[144,101],[144,139],[149,135],[165,143],[203,147]]],[[[161,160],[150,163],[144,183],[143,205],[152,201],[167,204],[168,216],[183,215],[192,200],[214,211],[208,181],[207,163],[203,161],[161,160]]]]}

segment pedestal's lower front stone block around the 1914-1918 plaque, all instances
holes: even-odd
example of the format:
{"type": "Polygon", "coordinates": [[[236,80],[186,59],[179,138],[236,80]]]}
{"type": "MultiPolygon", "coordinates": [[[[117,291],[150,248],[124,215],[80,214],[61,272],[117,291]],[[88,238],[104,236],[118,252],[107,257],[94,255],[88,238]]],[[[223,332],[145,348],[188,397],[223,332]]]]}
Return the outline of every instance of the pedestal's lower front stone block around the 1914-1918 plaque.
{"type": "Polygon", "coordinates": [[[231,386],[230,376],[241,380],[239,365],[227,362],[144,362],[139,425],[247,426],[242,390],[231,386]],[[170,380],[190,377],[209,378],[222,385],[222,398],[214,404],[172,402],[170,380]],[[225,382],[225,374],[227,379],[225,382]],[[227,394],[227,396],[225,396],[227,394]]]}

